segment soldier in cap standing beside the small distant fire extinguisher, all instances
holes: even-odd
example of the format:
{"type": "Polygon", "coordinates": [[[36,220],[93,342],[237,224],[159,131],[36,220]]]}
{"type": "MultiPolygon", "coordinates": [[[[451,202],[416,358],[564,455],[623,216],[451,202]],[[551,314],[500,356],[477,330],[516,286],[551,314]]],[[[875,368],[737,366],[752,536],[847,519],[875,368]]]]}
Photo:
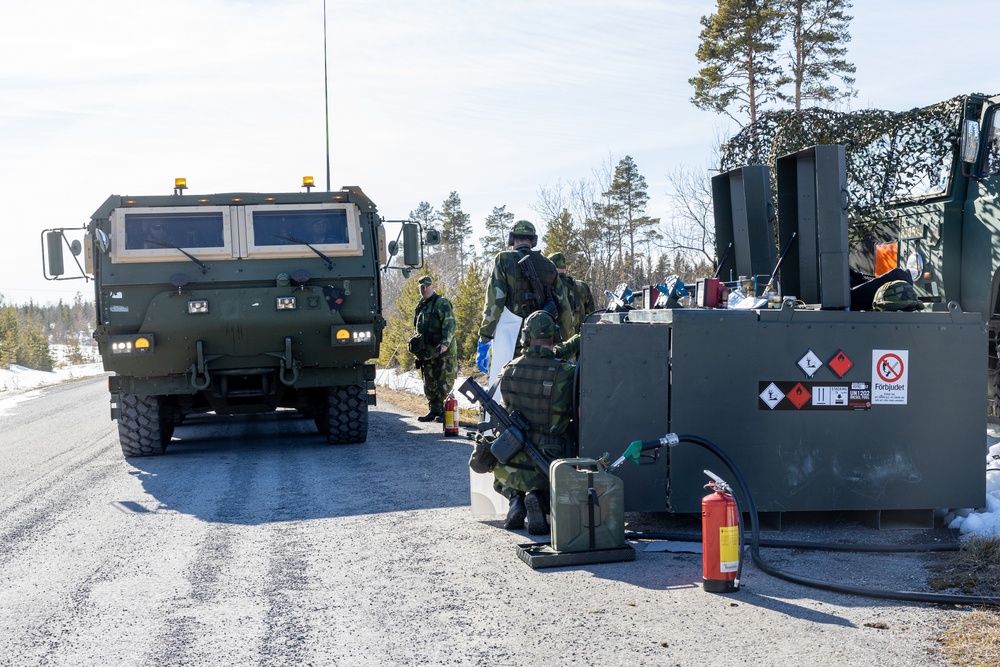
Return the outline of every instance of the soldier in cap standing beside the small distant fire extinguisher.
{"type": "Polygon", "coordinates": [[[455,386],[458,357],[455,349],[455,313],[451,301],[434,291],[434,281],[423,276],[417,281],[420,303],[413,313],[413,327],[423,339],[411,345],[417,367],[424,378],[424,395],[430,411],[418,421],[444,421],[444,401],[455,386]]]}

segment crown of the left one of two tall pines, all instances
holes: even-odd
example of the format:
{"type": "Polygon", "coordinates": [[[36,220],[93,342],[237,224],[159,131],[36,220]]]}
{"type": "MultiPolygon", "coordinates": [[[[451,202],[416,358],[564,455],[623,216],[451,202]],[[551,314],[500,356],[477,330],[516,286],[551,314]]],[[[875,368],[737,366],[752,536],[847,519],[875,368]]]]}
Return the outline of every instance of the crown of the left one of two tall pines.
{"type": "Polygon", "coordinates": [[[695,55],[704,66],[688,79],[696,107],[726,114],[743,126],[741,117],[753,123],[777,97],[788,82],[775,62],[785,32],[781,1],[718,0],[716,13],[701,17],[695,55]]]}

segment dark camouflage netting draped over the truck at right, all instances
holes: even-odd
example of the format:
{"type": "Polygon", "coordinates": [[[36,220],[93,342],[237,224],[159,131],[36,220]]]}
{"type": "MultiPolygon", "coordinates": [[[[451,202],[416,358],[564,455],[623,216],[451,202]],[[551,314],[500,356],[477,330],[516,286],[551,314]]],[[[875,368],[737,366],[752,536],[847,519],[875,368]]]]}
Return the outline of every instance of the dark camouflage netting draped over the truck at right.
{"type": "Polygon", "coordinates": [[[965,96],[921,109],[851,113],[826,109],[772,111],[722,149],[723,172],[750,164],[771,169],[777,158],[819,144],[847,154],[848,220],[852,239],[867,234],[900,199],[944,192],[957,159],[965,96]]]}

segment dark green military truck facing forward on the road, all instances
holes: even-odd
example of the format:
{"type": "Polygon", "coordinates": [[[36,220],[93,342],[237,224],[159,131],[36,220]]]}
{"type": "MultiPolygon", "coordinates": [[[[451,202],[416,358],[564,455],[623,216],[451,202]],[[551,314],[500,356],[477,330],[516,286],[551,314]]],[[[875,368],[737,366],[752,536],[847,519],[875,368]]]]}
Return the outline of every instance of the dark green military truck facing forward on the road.
{"type": "Polygon", "coordinates": [[[194,195],[177,179],[172,195],[109,197],[76,230],[82,243],[68,228],[42,232],[46,278],[94,280],[126,457],[162,454],[176,425],[209,411],[294,408],[329,443],[367,439],[380,269],[400,245],[392,268],[419,268],[426,239],[406,222],[387,244],[358,187],[304,188],[194,195]],[[67,250],[83,276],[67,275],[67,250]]]}

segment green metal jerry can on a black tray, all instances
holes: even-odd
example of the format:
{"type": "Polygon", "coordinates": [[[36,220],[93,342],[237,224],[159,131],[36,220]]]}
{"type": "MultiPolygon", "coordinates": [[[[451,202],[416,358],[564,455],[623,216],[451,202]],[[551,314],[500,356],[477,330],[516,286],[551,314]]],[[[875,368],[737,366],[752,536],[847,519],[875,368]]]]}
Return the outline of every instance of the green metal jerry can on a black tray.
{"type": "Polygon", "coordinates": [[[557,459],[549,468],[552,549],[625,546],[625,487],[594,459],[557,459]]]}

